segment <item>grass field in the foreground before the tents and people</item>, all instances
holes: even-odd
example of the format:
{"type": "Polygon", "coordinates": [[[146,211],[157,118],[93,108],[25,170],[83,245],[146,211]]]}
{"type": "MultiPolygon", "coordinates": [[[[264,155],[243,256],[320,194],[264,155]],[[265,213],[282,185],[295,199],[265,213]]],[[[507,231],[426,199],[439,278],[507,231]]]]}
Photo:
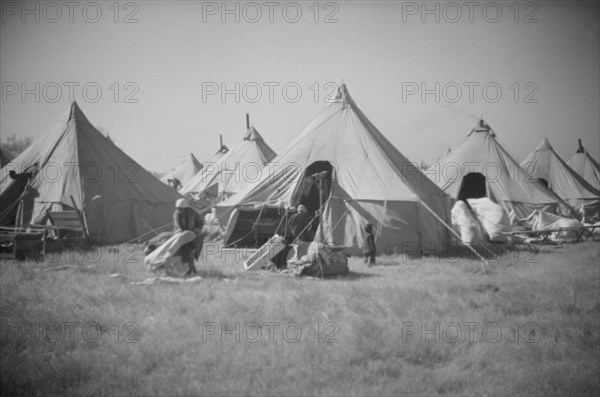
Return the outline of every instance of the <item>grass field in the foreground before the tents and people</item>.
{"type": "Polygon", "coordinates": [[[139,250],[99,254],[2,262],[2,395],[600,393],[597,242],[327,280],[229,253],[158,285],[130,284],[152,277],[139,250]]]}

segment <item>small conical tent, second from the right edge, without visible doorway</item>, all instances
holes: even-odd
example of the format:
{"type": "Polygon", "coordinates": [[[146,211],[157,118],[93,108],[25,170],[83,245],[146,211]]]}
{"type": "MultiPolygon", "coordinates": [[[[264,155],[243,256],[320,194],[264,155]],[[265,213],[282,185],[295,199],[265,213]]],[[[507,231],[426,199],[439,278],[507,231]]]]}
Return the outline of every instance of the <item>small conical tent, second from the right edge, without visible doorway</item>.
{"type": "Polygon", "coordinates": [[[600,191],[573,171],[554,151],[547,138],[521,162],[521,167],[574,208],[600,202],[600,191]]]}

